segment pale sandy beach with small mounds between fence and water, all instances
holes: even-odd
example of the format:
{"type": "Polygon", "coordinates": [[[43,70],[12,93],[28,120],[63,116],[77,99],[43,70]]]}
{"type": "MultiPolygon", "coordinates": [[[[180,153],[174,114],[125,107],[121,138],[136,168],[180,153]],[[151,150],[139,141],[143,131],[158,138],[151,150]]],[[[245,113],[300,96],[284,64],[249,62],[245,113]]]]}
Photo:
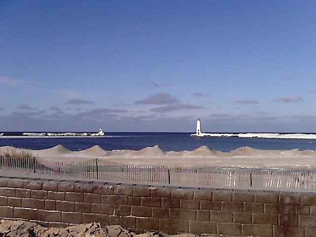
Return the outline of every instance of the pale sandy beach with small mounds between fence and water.
{"type": "MultiPolygon", "coordinates": [[[[15,153],[16,148],[0,147],[0,155],[15,153]]],[[[23,149],[17,149],[23,151],[23,149]]],[[[93,146],[82,151],[70,151],[62,145],[44,149],[27,150],[32,157],[52,161],[80,161],[103,159],[129,165],[154,165],[169,167],[236,167],[236,168],[274,168],[274,169],[316,169],[316,152],[313,150],[299,151],[297,149],[258,150],[241,147],[231,152],[220,152],[206,146],[193,151],[165,152],[158,146],[147,147],[138,151],[113,150],[106,151],[99,146],[93,146]]]]}

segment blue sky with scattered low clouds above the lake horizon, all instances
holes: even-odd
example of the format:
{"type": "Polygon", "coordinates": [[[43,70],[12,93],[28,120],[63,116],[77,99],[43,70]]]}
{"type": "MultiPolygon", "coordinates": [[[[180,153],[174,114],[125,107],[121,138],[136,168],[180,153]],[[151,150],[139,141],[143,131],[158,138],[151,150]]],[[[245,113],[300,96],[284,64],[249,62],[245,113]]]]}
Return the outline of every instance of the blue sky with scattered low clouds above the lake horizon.
{"type": "Polygon", "coordinates": [[[315,12],[0,0],[0,131],[316,132],[315,12]]]}

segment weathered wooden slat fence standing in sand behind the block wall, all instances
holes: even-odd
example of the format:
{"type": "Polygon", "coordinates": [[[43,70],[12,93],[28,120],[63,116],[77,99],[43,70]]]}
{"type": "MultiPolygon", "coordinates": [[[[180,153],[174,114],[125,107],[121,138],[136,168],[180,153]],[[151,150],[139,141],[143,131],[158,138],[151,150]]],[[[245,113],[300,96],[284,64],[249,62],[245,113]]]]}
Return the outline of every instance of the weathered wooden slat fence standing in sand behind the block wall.
{"type": "Polygon", "coordinates": [[[182,168],[127,165],[102,159],[61,162],[38,158],[0,156],[0,170],[27,171],[53,176],[107,182],[166,184],[173,186],[295,189],[316,191],[316,170],[242,168],[182,168]]]}

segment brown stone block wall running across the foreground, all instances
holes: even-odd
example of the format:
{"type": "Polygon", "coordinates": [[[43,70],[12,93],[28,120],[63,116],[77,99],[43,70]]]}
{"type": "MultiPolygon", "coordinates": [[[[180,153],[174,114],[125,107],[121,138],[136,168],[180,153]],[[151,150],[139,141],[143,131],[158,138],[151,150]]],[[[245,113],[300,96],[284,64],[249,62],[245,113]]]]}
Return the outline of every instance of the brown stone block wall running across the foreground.
{"type": "Polygon", "coordinates": [[[0,218],[136,233],[316,236],[316,195],[0,177],[0,218]]]}

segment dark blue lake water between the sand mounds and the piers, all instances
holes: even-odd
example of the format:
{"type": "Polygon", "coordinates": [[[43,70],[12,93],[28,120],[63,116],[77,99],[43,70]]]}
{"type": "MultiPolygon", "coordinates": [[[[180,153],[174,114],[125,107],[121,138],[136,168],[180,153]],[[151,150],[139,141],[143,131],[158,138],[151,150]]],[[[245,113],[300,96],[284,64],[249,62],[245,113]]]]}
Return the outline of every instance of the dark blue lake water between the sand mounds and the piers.
{"type": "MultiPolygon", "coordinates": [[[[13,133],[18,135],[22,134],[13,133]]],[[[207,146],[212,150],[228,152],[248,146],[264,150],[316,150],[314,139],[268,139],[237,137],[190,137],[190,133],[178,132],[107,132],[105,137],[49,137],[49,138],[0,138],[0,146],[14,146],[33,150],[63,145],[72,151],[84,150],[99,145],[105,150],[140,150],[158,145],[163,151],[194,150],[207,146]]]]}

